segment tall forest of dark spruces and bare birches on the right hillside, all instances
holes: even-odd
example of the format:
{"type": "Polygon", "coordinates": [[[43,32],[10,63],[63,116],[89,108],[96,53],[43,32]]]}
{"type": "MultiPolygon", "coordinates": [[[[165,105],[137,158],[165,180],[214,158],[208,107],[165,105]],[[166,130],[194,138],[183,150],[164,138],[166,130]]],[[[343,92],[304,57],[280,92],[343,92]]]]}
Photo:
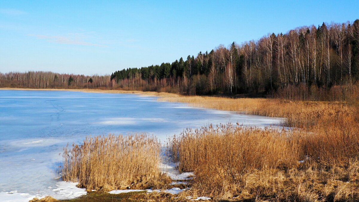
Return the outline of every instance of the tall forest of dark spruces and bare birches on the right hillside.
{"type": "Polygon", "coordinates": [[[272,33],[258,41],[233,42],[196,57],[188,55],[186,60],[111,74],[122,88],[187,94],[269,93],[292,86],[330,89],[358,78],[358,19],[272,33]]]}

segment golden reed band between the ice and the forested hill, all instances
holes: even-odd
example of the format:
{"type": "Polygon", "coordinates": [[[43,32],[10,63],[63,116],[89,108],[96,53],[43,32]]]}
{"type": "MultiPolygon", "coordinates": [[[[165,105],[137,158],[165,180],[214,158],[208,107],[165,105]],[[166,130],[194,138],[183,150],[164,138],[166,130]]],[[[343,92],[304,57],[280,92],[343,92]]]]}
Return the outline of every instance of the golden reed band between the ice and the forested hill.
{"type": "Polygon", "coordinates": [[[237,111],[270,117],[285,118],[283,125],[288,127],[310,127],[318,116],[334,114],[337,111],[349,111],[344,102],[317,101],[286,101],[271,98],[225,98],[181,96],[161,97],[160,101],[186,102],[196,107],[206,107],[218,110],[237,111]]]}

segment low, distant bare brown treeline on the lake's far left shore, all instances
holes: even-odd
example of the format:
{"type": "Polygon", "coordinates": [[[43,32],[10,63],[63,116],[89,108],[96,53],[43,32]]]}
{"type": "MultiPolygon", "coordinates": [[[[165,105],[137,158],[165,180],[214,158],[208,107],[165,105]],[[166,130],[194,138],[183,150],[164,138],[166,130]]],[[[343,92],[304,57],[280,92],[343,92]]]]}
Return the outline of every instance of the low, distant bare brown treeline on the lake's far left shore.
{"type": "Polygon", "coordinates": [[[108,88],[109,75],[85,76],[53,72],[0,73],[0,87],[14,88],[108,88]]]}

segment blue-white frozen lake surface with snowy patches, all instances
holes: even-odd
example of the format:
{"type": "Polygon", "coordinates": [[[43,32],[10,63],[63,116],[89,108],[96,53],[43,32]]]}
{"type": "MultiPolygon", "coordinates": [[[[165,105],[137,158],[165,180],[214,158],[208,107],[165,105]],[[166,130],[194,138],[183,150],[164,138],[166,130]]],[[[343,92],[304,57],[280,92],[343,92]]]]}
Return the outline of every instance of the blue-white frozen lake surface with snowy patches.
{"type": "Polygon", "coordinates": [[[0,197],[17,192],[56,197],[63,147],[89,135],[146,132],[165,141],[187,127],[228,122],[264,127],[279,121],[134,94],[0,90],[0,197]]]}

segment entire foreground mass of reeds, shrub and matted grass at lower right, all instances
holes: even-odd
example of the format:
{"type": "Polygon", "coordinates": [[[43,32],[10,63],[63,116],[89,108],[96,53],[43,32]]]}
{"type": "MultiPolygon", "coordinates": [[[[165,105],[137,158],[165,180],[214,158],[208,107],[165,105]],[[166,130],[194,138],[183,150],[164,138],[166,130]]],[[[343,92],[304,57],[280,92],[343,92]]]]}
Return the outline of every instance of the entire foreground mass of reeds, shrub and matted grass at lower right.
{"type": "Polygon", "coordinates": [[[187,129],[169,138],[182,171],[194,171],[194,195],[257,201],[356,201],[359,130],[187,129]],[[348,137],[349,134],[349,137],[348,137]],[[346,138],[346,139],[345,139],[346,138]],[[233,198],[234,197],[234,198],[233,198]]]}

